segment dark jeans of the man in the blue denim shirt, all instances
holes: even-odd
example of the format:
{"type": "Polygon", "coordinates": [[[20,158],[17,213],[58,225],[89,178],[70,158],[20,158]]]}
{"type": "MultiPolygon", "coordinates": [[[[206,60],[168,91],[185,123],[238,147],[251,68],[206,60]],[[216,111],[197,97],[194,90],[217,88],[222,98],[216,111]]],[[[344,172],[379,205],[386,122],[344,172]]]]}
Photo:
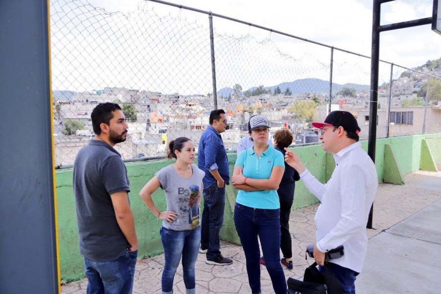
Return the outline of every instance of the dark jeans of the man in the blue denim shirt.
{"type": "Polygon", "coordinates": [[[223,223],[225,208],[225,187],[219,188],[217,183],[203,191],[204,210],[202,211],[202,231],[200,245],[208,249],[207,259],[221,255],[219,233],[223,223]]]}

